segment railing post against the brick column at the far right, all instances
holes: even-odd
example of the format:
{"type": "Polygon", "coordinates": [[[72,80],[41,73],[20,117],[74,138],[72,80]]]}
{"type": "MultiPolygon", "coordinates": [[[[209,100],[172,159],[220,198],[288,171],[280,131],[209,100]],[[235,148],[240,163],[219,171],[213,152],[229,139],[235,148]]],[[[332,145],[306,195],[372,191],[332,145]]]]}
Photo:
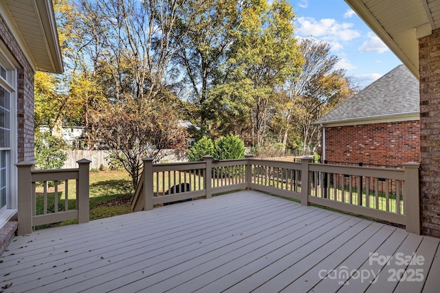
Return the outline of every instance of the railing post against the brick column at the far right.
{"type": "Polygon", "coordinates": [[[402,164],[405,168],[404,213],[406,232],[420,235],[420,163],[402,164]]]}

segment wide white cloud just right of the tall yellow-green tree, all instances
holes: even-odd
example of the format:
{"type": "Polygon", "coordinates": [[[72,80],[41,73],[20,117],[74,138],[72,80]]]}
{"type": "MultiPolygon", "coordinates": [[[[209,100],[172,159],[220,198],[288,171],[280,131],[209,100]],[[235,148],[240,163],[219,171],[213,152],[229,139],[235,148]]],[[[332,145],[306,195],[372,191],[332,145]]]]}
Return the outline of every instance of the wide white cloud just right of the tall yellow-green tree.
{"type": "Polygon", "coordinates": [[[316,19],[311,17],[298,17],[298,29],[300,36],[314,36],[320,40],[327,40],[329,43],[338,41],[347,42],[358,38],[360,33],[352,30],[353,23],[338,23],[336,19],[316,19]]]}

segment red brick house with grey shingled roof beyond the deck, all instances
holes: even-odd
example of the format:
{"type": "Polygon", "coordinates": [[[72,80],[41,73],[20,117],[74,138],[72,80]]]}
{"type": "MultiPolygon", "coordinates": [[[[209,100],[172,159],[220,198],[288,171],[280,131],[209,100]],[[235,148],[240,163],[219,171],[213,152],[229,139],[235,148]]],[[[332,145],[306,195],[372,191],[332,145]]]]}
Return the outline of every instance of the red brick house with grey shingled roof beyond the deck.
{"type": "Polygon", "coordinates": [[[419,162],[419,82],[399,65],[314,124],[322,126],[322,160],[328,163],[419,162]]]}

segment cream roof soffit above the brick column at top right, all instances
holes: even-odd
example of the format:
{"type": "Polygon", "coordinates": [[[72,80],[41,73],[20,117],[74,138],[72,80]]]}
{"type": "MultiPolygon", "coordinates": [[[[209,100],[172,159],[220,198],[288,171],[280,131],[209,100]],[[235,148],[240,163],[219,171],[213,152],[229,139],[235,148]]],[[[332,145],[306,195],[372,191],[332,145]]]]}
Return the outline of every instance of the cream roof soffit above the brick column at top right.
{"type": "Polygon", "coordinates": [[[419,78],[419,40],[440,27],[438,0],[345,0],[419,78]]]}

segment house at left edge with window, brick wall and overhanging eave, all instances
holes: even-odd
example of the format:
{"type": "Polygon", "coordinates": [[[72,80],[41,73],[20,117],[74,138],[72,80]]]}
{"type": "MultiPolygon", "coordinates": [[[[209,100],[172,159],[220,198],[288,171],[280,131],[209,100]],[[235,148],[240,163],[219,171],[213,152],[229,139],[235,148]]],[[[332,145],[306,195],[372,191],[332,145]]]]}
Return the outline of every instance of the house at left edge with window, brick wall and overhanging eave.
{"type": "Polygon", "coordinates": [[[63,72],[52,1],[1,0],[0,228],[17,212],[15,164],[34,161],[36,70],[63,72]]]}

